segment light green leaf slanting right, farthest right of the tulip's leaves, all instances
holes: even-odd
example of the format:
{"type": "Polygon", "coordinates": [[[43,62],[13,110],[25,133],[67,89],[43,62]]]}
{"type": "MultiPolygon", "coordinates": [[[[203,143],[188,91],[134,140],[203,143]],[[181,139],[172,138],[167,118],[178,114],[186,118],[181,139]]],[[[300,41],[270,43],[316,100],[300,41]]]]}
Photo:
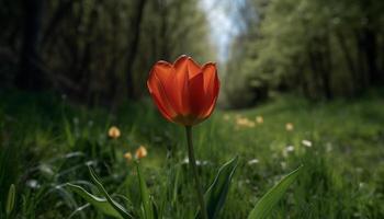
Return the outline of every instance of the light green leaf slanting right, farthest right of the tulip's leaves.
{"type": "Polygon", "coordinates": [[[255,208],[249,214],[248,219],[267,218],[272,211],[272,208],[283,197],[290,185],[296,180],[302,168],[303,165],[292,171],[290,174],[284,176],[275,186],[268,191],[268,193],[262,196],[261,199],[256,204],[255,208]]]}

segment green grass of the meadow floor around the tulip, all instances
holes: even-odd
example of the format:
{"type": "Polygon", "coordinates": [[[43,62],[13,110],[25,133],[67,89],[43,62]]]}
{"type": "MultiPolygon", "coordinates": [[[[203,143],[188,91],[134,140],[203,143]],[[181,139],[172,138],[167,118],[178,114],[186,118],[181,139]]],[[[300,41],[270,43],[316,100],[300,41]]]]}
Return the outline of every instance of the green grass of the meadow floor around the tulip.
{"type": "MultiPolygon", "coordinates": [[[[283,95],[246,111],[216,111],[194,128],[194,145],[197,160],[206,161],[200,166],[205,188],[223,163],[240,158],[221,218],[246,218],[300,164],[301,176],[272,218],[384,218],[384,100],[379,96],[310,103],[283,95]],[[263,124],[237,125],[237,117],[255,122],[256,116],[263,124]]],[[[144,175],[155,199],[166,204],[166,215],[193,217],[197,205],[183,163],[184,130],[162,119],[149,100],[111,113],[49,94],[3,92],[0,97],[0,218],[11,183],[16,186],[11,218],[103,218],[65,186],[71,182],[94,192],[87,164],[116,199],[126,195],[138,207],[136,172],[123,154],[140,145],[148,149],[144,175]],[[112,125],[122,131],[118,139],[106,136],[112,125]]]]}

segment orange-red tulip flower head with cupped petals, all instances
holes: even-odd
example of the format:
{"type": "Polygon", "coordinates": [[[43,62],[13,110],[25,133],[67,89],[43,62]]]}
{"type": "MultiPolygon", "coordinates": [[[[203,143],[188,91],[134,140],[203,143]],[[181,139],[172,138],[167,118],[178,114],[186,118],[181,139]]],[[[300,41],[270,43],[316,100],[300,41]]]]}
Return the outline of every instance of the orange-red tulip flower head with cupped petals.
{"type": "Polygon", "coordinates": [[[197,65],[181,56],[173,64],[158,61],[147,81],[149,93],[163,117],[184,126],[196,125],[212,114],[218,95],[216,65],[197,65]]]}

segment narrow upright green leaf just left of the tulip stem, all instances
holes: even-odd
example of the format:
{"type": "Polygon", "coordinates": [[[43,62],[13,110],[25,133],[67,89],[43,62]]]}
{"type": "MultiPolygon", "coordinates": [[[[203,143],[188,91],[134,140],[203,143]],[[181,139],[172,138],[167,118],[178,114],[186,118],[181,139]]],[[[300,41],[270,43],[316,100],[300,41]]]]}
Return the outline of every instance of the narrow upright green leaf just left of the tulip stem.
{"type": "Polygon", "coordinates": [[[144,209],[144,216],[146,219],[153,219],[154,218],[153,203],[150,201],[148,187],[142,174],[139,162],[136,162],[136,168],[137,168],[138,183],[140,186],[140,197],[142,197],[142,205],[144,209]]]}

